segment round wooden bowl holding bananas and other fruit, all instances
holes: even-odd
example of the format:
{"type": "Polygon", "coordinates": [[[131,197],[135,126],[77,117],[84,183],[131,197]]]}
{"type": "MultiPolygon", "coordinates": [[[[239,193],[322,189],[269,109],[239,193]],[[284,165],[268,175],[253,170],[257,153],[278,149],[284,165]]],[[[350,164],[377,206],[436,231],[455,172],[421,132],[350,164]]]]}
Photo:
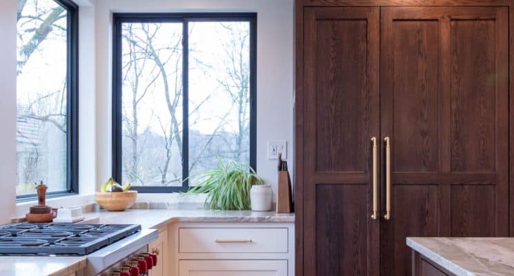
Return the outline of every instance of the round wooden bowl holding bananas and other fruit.
{"type": "Polygon", "coordinates": [[[130,184],[119,185],[112,177],[104,183],[95,199],[101,208],[110,211],[122,211],[130,208],[137,198],[136,190],[129,190],[130,184]]]}

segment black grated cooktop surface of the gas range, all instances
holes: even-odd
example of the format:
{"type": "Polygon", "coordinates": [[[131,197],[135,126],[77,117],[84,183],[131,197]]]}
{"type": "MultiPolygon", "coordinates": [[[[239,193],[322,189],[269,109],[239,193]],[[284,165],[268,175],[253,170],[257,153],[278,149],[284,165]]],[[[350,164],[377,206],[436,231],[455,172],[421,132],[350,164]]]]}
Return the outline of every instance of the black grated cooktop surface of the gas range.
{"type": "Polygon", "coordinates": [[[0,255],[88,255],[141,230],[132,224],[7,224],[0,255]]]}

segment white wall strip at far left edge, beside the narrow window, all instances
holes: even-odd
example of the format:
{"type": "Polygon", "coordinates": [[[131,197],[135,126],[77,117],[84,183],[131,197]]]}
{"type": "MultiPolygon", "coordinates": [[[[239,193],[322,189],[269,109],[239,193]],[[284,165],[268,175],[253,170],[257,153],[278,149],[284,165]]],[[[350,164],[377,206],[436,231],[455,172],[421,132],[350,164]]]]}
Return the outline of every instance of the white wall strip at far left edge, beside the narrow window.
{"type": "Polygon", "coordinates": [[[16,6],[0,6],[0,223],[10,221],[16,199],[16,6]]]}

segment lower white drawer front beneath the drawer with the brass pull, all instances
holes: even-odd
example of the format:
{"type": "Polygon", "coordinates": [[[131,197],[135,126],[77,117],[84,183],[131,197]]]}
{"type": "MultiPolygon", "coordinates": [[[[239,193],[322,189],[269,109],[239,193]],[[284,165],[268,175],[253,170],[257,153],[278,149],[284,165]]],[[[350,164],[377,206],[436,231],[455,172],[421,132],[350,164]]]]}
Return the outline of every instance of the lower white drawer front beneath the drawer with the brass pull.
{"type": "Polygon", "coordinates": [[[287,276],[287,260],[181,260],[179,276],[287,276]]]}

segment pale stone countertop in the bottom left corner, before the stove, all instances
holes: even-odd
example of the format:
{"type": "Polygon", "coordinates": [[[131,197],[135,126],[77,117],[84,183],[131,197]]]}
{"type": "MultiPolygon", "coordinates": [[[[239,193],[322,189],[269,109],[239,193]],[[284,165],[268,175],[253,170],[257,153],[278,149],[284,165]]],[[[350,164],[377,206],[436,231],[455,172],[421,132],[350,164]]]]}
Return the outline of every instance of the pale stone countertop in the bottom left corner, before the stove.
{"type": "Polygon", "coordinates": [[[0,275],[68,276],[86,267],[86,257],[0,257],[0,275]]]}

